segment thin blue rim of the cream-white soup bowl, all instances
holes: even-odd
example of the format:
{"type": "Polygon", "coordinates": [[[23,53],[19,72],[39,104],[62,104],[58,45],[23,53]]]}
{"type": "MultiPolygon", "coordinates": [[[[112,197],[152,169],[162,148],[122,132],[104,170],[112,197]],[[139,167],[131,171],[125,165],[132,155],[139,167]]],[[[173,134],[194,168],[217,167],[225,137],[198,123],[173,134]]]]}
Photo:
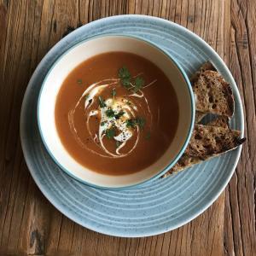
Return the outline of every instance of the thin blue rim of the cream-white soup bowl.
{"type": "Polygon", "coordinates": [[[172,57],[172,55],[170,55],[168,52],[166,52],[165,49],[161,49],[159,46],[157,46],[156,44],[154,44],[153,42],[151,42],[148,39],[144,39],[138,36],[133,36],[133,35],[129,35],[129,34],[120,34],[120,33],[102,33],[99,34],[97,36],[93,36],[90,38],[86,38],[84,40],[79,41],[77,44],[74,44],[73,46],[71,46],[70,48],[68,48],[61,56],[59,56],[55,62],[52,64],[52,66],[49,68],[49,71],[46,73],[44,81],[41,85],[41,88],[39,90],[39,95],[38,95],[38,106],[37,106],[37,120],[38,120],[38,131],[40,134],[40,137],[42,139],[42,142],[44,143],[44,147],[46,148],[49,156],[55,161],[56,165],[59,166],[61,168],[62,171],[66,172],[70,177],[75,178],[76,180],[78,180],[80,183],[84,183],[85,185],[88,185],[90,187],[96,188],[96,189],[108,189],[108,190],[119,190],[119,189],[131,189],[137,185],[141,185],[143,183],[148,183],[153,181],[156,178],[161,177],[162,175],[164,175],[168,170],[170,170],[172,168],[172,166],[174,166],[177,163],[177,160],[180,159],[180,157],[182,156],[183,152],[185,151],[185,149],[187,148],[188,144],[189,144],[189,140],[190,137],[192,135],[192,131],[195,125],[195,97],[194,97],[194,93],[192,90],[192,85],[190,84],[189,78],[187,76],[187,74],[184,72],[183,67],[180,66],[180,64],[178,64],[177,61],[175,61],[175,58],[172,57]],[[53,70],[53,68],[55,67],[55,65],[57,65],[57,63],[59,61],[61,61],[61,59],[67,55],[68,52],[70,52],[72,49],[78,47],[80,44],[84,44],[85,42],[88,42],[90,40],[94,40],[96,38],[104,38],[104,37],[122,37],[122,38],[133,38],[133,39],[137,39],[140,41],[143,41],[143,43],[145,44],[149,44],[151,46],[153,46],[155,49],[159,50],[160,52],[162,52],[164,55],[166,55],[171,61],[172,63],[177,67],[177,70],[179,71],[179,73],[182,74],[183,79],[185,81],[185,84],[187,84],[187,89],[189,91],[189,98],[190,98],[190,107],[191,107],[191,119],[190,119],[190,125],[189,125],[189,131],[188,134],[186,136],[185,142],[183,143],[182,148],[179,150],[178,154],[175,156],[175,158],[170,162],[169,165],[167,165],[162,171],[157,172],[153,177],[150,177],[146,180],[144,180],[143,182],[139,182],[139,183],[135,183],[132,185],[126,185],[126,186],[119,186],[119,187],[107,187],[107,186],[99,186],[96,185],[94,183],[89,183],[84,181],[82,178],[77,177],[75,175],[73,175],[73,173],[69,170],[67,170],[67,168],[65,168],[64,166],[61,165],[61,163],[55,159],[55,156],[52,154],[52,151],[50,150],[50,148],[48,147],[46,141],[44,140],[44,135],[43,135],[43,131],[41,129],[41,124],[40,124],[40,119],[39,119],[39,105],[40,105],[40,100],[41,100],[41,96],[42,96],[42,92],[44,89],[44,85],[45,85],[45,81],[46,79],[49,77],[49,74],[51,73],[51,71],[53,70]]]}

